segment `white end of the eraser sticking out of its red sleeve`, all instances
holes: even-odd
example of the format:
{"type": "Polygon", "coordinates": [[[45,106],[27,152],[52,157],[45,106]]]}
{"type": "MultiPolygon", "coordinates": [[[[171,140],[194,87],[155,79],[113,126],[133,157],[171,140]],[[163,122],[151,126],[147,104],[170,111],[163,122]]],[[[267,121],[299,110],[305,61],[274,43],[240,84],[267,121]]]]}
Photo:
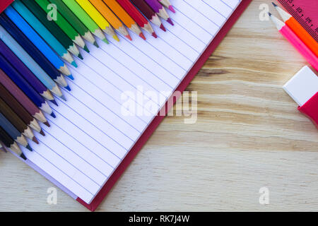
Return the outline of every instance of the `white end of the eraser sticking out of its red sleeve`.
{"type": "Polygon", "coordinates": [[[318,76],[308,66],[304,66],[283,88],[301,107],[318,92],[318,76]]]}

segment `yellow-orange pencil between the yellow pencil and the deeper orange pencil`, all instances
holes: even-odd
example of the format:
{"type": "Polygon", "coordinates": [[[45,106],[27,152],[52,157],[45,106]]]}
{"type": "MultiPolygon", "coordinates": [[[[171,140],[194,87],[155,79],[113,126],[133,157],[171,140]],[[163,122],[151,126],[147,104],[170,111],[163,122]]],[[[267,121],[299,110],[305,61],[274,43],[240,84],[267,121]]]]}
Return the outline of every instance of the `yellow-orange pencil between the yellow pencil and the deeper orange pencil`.
{"type": "Polygon", "coordinates": [[[102,14],[102,16],[105,17],[105,19],[112,25],[112,27],[117,30],[117,32],[121,33],[124,35],[126,38],[131,40],[131,37],[122,24],[122,21],[120,21],[116,15],[106,6],[102,0],[90,0],[90,2],[95,6],[95,8],[102,14]]]}

